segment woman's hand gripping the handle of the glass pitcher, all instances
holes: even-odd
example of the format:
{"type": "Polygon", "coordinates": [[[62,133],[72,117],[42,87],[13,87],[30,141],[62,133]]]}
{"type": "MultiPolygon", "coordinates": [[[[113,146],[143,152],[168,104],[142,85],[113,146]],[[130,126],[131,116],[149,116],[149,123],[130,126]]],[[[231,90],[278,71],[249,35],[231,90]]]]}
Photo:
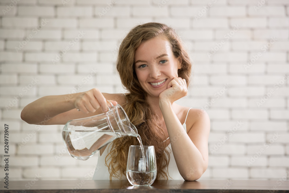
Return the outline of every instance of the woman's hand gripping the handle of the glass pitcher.
{"type": "MultiPolygon", "coordinates": [[[[96,88],[76,95],[73,102],[75,108],[84,113],[94,113],[100,107],[103,112],[108,110],[106,99],[96,88]]],[[[117,104],[117,102],[113,100],[110,102],[112,102],[113,105],[117,104]]]]}

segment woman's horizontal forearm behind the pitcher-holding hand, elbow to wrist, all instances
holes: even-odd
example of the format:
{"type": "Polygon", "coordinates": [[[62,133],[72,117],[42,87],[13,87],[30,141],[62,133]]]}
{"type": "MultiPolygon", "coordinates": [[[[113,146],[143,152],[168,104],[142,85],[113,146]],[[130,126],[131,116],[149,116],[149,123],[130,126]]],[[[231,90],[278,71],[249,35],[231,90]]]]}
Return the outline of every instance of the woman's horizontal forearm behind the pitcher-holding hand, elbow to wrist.
{"type": "Polygon", "coordinates": [[[74,109],[72,98],[79,93],[51,95],[28,104],[21,112],[21,119],[29,124],[38,124],[52,117],[74,109]]]}

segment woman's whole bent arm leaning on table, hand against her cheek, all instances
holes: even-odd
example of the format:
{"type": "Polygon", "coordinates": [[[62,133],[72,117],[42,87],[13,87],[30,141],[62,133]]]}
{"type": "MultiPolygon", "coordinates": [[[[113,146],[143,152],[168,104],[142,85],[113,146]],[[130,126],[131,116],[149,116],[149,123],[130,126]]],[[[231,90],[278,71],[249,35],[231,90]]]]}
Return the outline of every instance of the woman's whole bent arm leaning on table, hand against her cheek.
{"type": "MultiPolygon", "coordinates": [[[[176,81],[180,84],[179,80],[176,81]]],[[[162,97],[160,95],[159,106],[166,123],[178,170],[185,180],[194,181],[199,179],[208,167],[210,119],[208,114],[201,109],[189,112],[188,118],[194,117],[195,122],[187,134],[172,107],[175,99],[179,98],[182,93],[186,95],[187,90],[186,87],[184,89],[174,84],[173,82],[174,90],[171,88],[170,92],[166,91],[167,93],[162,94],[162,97]]]]}

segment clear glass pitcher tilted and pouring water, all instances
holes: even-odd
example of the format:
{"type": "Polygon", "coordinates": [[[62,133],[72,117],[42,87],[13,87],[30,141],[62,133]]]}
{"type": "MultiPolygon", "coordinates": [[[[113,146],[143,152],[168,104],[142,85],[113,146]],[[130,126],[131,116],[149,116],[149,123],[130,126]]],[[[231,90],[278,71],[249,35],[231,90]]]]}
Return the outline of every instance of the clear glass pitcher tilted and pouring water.
{"type": "Polygon", "coordinates": [[[87,160],[118,137],[138,135],[123,108],[119,104],[114,106],[109,100],[107,102],[107,112],[65,124],[62,139],[72,157],[87,160]]]}

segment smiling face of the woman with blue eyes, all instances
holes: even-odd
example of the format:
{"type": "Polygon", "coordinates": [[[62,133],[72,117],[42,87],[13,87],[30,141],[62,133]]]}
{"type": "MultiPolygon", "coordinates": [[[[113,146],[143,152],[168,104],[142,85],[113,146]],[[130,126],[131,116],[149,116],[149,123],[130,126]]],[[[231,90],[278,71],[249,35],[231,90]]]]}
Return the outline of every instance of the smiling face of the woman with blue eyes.
{"type": "Polygon", "coordinates": [[[158,97],[168,88],[168,83],[178,77],[181,63],[173,55],[171,44],[163,36],[140,44],[135,52],[135,71],[142,88],[158,97]]]}

